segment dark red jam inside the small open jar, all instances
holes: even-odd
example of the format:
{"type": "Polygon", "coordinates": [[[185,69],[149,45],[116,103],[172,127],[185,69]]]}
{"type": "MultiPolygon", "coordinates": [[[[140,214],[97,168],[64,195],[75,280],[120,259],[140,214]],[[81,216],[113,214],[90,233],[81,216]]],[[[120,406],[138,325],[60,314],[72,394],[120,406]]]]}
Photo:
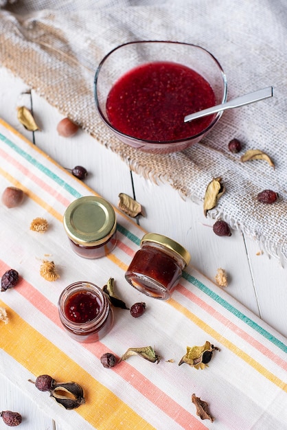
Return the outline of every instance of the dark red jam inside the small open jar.
{"type": "Polygon", "coordinates": [[[78,291],[71,295],[65,304],[67,319],[75,323],[85,323],[97,317],[101,304],[96,295],[90,291],[78,291]]]}

